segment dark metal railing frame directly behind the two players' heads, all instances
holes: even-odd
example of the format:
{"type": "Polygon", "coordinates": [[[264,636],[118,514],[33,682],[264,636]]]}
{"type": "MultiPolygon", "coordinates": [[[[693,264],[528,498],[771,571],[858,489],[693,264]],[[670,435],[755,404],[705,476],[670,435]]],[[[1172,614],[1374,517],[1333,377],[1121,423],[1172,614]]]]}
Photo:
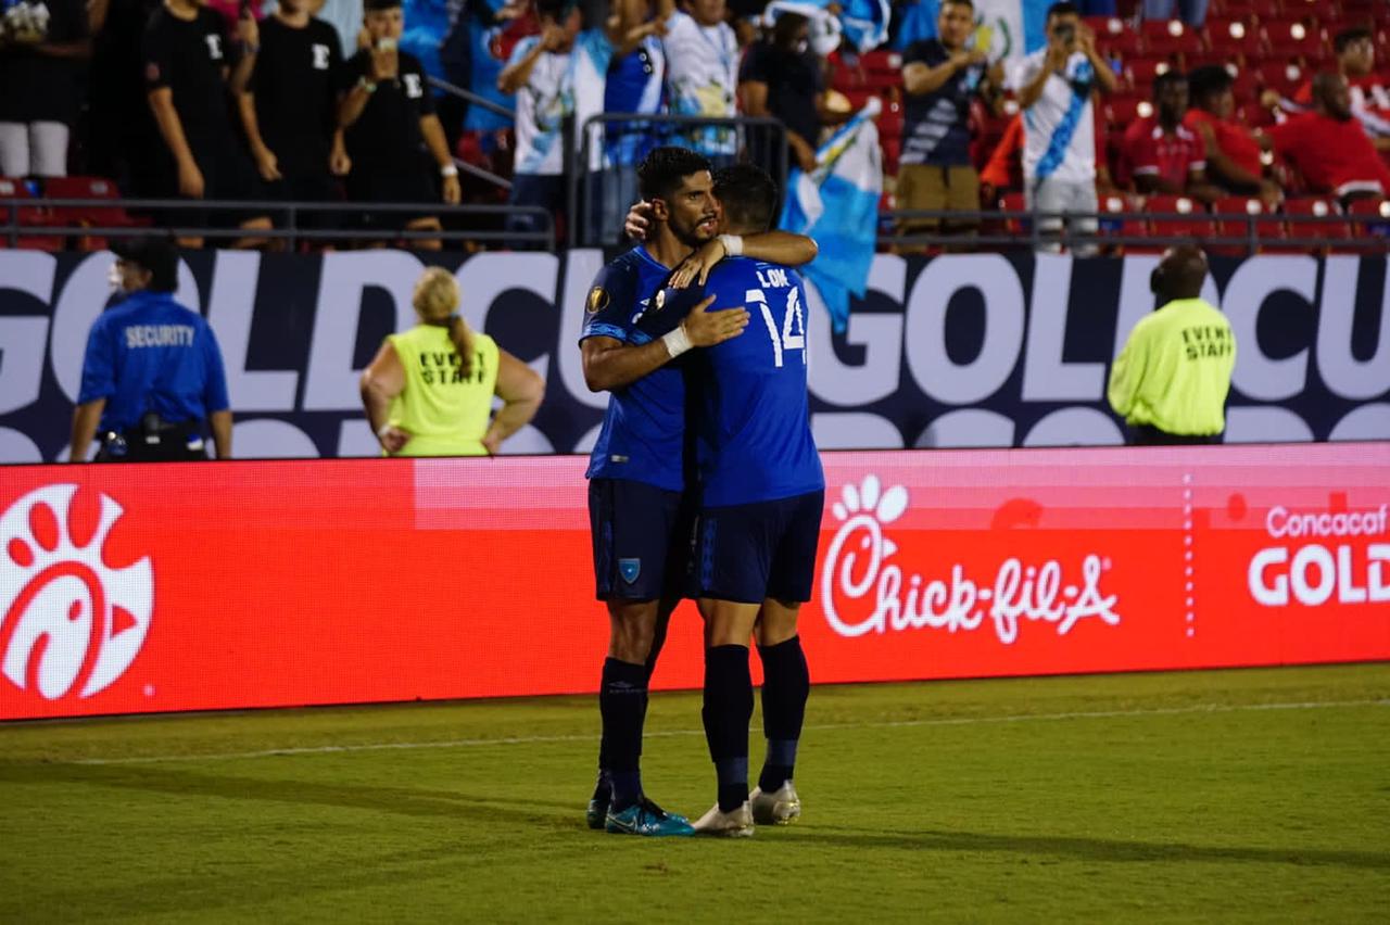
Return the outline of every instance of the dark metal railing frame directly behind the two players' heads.
{"type": "Polygon", "coordinates": [[[569,149],[577,150],[566,200],[571,246],[621,243],[623,217],[638,199],[637,161],[657,144],[692,147],[716,167],[752,160],[769,168],[777,189],[787,188],[787,129],[778,119],[600,112],[585,119],[578,131],[582,132],[580,143],[569,149]],[[621,162],[614,162],[616,154],[621,162]]]}

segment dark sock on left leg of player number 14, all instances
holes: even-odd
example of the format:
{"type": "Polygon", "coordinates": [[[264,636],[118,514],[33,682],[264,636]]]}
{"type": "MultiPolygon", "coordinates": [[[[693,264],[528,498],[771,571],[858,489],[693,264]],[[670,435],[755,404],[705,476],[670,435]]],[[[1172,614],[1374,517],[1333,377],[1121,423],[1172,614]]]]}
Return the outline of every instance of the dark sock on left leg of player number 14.
{"type": "Polygon", "coordinates": [[[719,808],[748,800],[748,724],[753,718],[753,676],[746,646],[705,650],[705,740],[719,774],[719,808]]]}

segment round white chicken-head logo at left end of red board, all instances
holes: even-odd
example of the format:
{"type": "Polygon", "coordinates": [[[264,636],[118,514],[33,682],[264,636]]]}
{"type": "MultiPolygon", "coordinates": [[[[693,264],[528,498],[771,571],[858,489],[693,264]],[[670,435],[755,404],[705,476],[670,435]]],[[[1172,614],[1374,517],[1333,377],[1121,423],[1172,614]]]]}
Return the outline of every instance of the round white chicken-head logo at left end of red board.
{"type": "Polygon", "coordinates": [[[0,514],[0,674],[57,700],[110,686],[145,643],[154,610],[146,556],[117,568],[107,539],[122,510],[111,497],[47,485],[0,514]]]}

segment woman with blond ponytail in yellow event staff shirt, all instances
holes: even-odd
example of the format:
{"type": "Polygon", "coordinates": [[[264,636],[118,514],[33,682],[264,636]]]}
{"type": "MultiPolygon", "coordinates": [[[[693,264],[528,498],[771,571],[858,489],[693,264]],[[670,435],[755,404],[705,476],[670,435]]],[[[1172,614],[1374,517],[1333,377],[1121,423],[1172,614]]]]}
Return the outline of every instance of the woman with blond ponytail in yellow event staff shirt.
{"type": "Polygon", "coordinates": [[[545,379],[459,317],[459,282],[425,271],[420,324],[386,338],[361,375],[361,403],[386,456],[488,456],[535,417],[545,379]],[[492,415],[492,397],[502,408],[492,415]],[[491,418],[491,422],[489,422],[491,418]]]}

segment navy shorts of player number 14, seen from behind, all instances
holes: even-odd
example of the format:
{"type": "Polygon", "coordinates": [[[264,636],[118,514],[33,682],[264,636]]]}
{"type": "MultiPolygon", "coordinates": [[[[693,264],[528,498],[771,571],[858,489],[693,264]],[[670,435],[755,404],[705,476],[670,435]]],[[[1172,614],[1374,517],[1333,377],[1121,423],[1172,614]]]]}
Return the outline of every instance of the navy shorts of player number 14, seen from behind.
{"type": "Polygon", "coordinates": [[[824,492],[706,507],[695,531],[699,596],[760,604],[810,600],[824,492]]]}

